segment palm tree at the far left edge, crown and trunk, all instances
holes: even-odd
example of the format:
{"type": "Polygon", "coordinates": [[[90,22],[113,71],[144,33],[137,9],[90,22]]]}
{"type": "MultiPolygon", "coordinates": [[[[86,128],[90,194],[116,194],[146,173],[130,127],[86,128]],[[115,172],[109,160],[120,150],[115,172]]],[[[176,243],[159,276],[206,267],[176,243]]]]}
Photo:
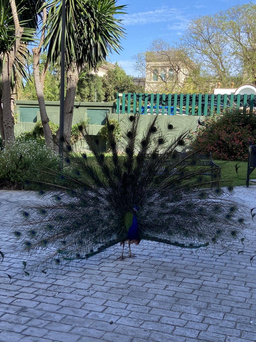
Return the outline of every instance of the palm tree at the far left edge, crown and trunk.
{"type": "Polygon", "coordinates": [[[37,29],[38,0],[0,0],[0,134],[15,141],[12,97],[17,77],[27,78],[24,60],[27,43],[37,29]]]}

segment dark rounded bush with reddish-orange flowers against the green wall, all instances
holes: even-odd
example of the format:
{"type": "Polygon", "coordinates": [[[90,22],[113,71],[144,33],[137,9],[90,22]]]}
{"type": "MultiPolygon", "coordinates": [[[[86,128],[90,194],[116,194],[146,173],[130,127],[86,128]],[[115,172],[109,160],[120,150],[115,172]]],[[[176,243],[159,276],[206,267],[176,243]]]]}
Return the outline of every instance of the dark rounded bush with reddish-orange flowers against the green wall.
{"type": "Polygon", "coordinates": [[[226,109],[206,117],[204,126],[190,133],[189,140],[193,149],[212,152],[214,159],[247,161],[249,142],[256,143],[256,116],[226,109]]]}

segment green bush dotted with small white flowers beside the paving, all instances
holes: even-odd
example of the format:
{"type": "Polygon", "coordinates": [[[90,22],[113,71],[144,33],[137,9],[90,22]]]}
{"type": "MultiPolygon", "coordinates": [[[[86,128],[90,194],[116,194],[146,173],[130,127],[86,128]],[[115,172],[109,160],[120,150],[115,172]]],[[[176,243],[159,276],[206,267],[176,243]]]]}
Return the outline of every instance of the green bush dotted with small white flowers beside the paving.
{"type": "Polygon", "coordinates": [[[39,179],[42,167],[57,170],[60,159],[41,140],[17,140],[0,150],[0,188],[22,189],[27,179],[39,179]]]}

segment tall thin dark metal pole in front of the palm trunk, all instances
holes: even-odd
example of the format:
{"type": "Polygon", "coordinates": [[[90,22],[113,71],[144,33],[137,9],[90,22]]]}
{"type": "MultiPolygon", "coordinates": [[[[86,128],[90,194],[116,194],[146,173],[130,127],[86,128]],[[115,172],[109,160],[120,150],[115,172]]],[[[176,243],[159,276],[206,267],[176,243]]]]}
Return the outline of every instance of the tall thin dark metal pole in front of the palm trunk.
{"type": "Polygon", "coordinates": [[[65,24],[66,24],[66,0],[62,0],[61,17],[61,53],[60,53],[60,113],[59,113],[59,154],[63,158],[64,142],[64,88],[65,88],[65,24]]]}

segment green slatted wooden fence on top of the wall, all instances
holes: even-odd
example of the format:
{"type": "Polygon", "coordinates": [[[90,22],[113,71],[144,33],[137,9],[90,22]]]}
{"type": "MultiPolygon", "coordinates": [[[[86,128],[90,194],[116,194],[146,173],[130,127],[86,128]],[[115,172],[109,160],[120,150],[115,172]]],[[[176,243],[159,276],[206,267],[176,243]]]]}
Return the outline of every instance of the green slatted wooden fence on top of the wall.
{"type": "Polygon", "coordinates": [[[256,111],[256,95],[117,93],[116,112],[162,115],[213,115],[225,108],[256,111]]]}

